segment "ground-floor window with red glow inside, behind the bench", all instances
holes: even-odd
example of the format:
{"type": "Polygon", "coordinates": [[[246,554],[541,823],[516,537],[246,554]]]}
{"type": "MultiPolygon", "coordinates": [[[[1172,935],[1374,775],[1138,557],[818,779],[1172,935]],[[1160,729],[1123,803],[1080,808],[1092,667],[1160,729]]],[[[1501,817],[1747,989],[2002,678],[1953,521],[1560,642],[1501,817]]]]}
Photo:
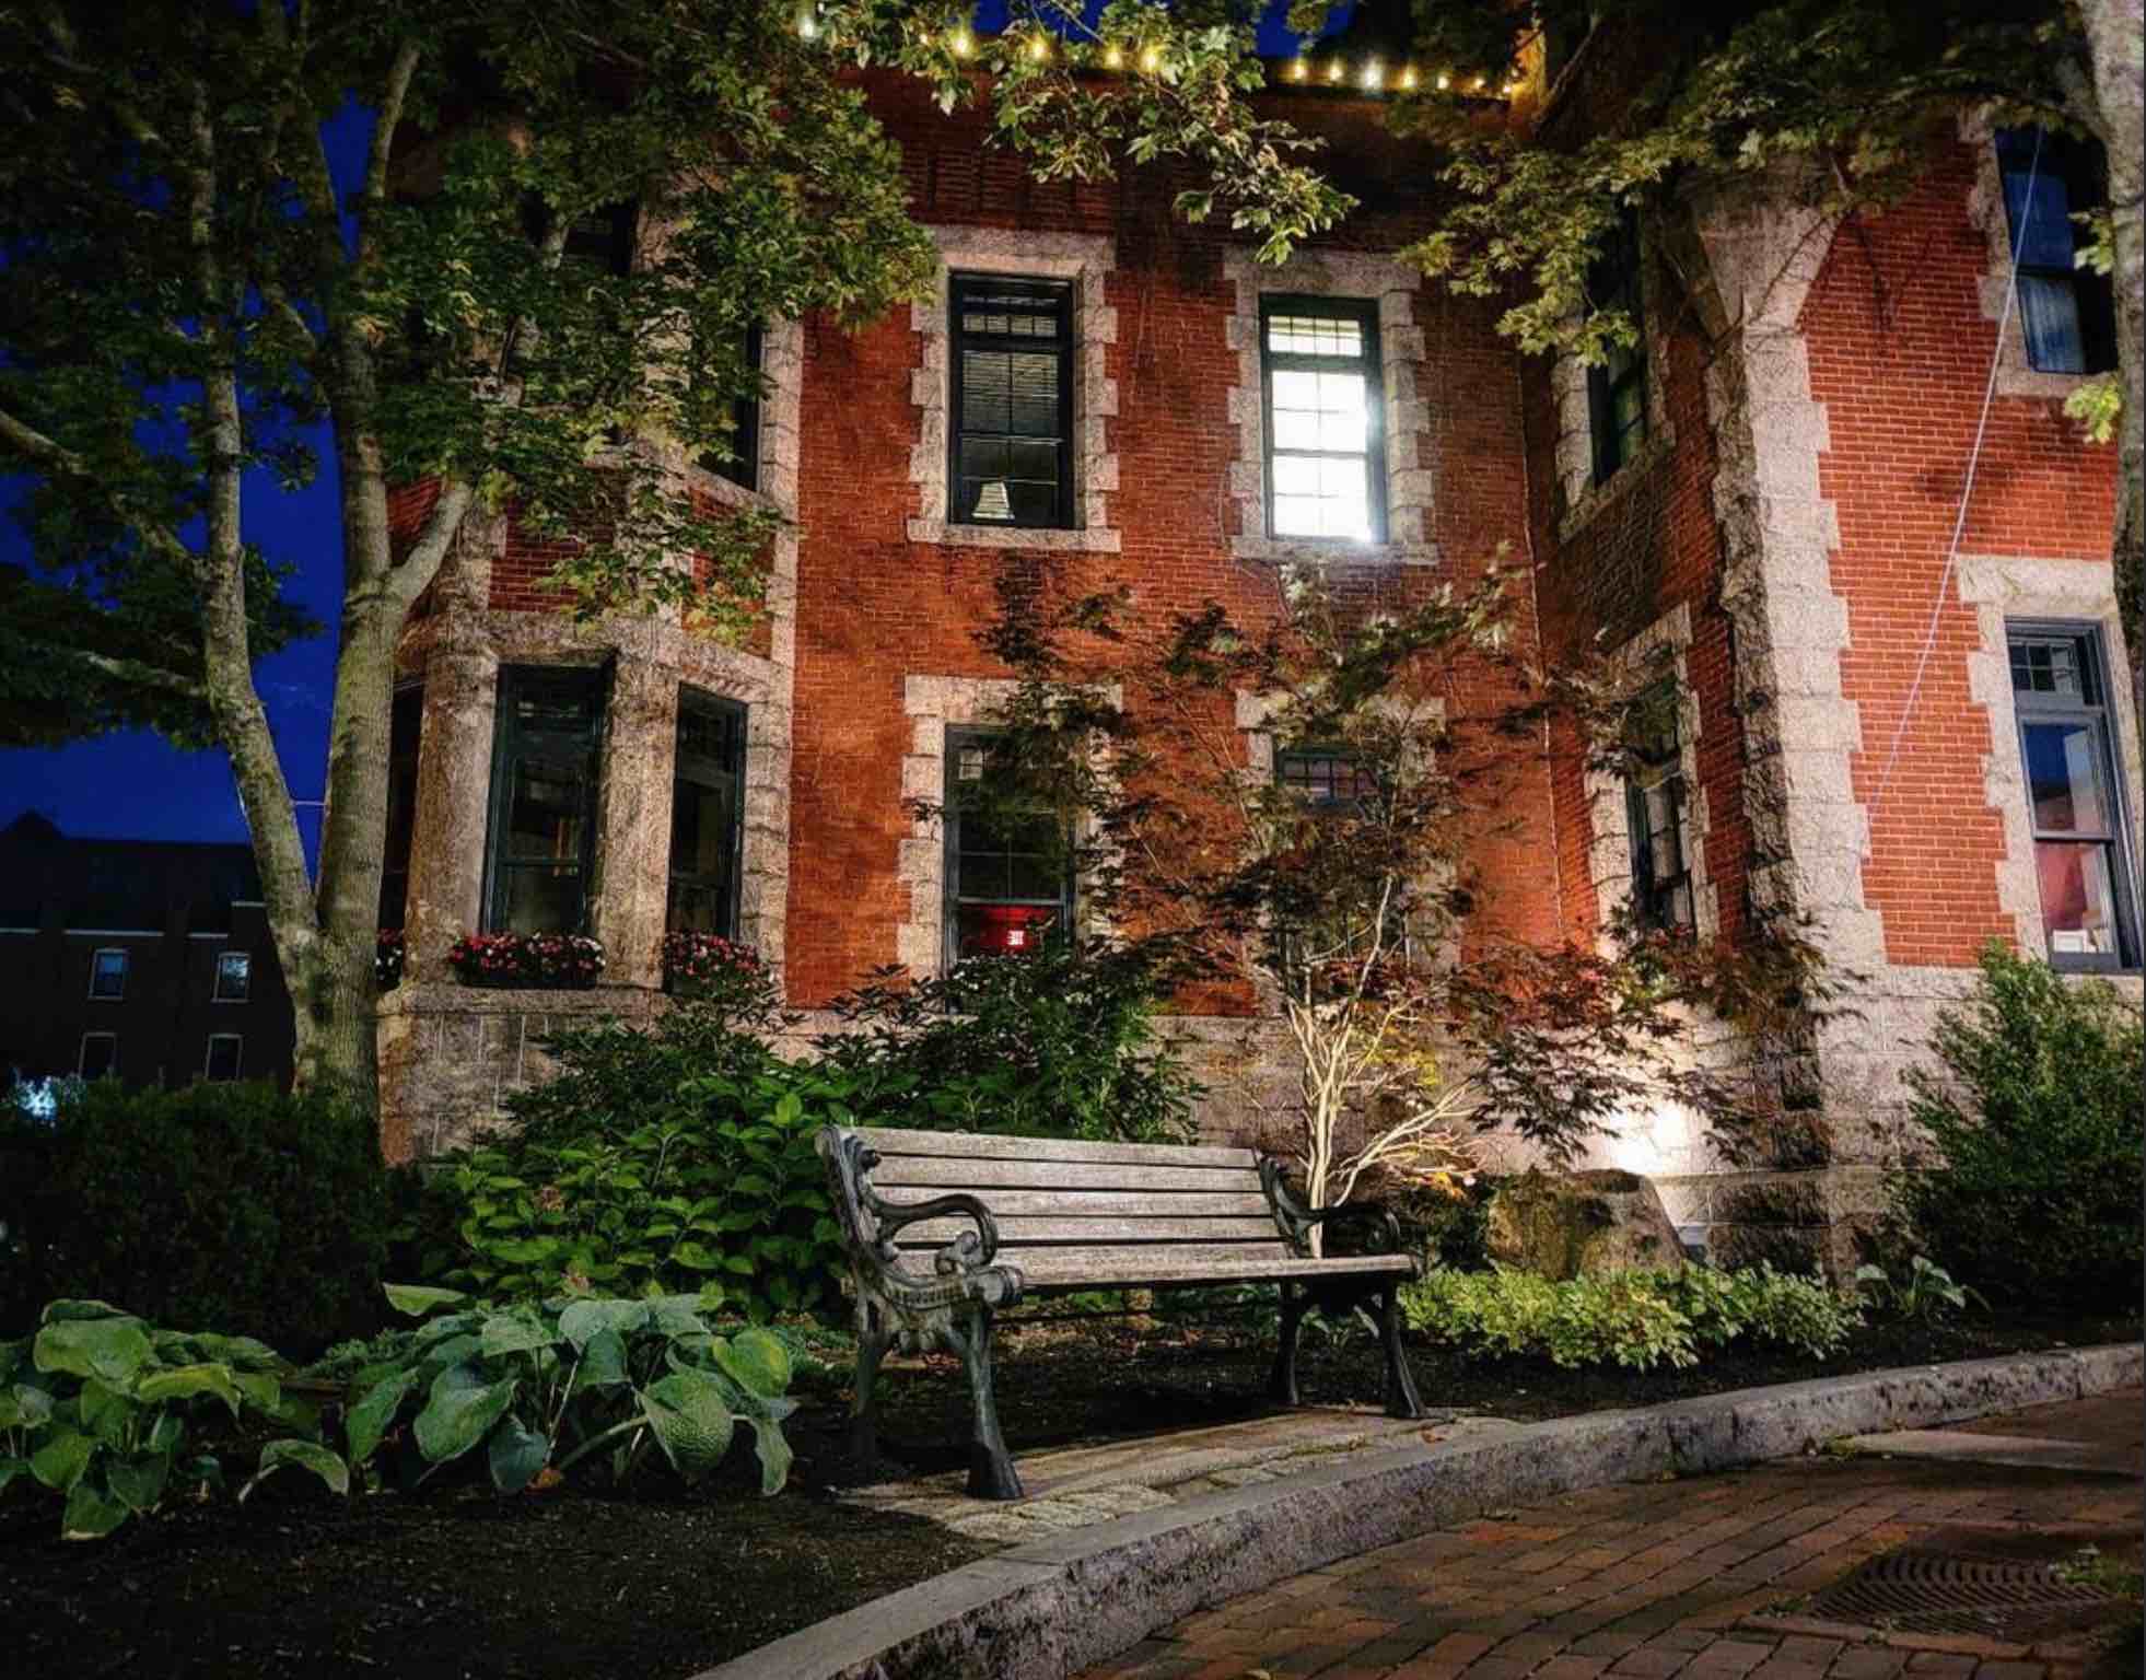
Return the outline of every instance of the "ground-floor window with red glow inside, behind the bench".
{"type": "Polygon", "coordinates": [[[1073,918],[1071,845],[1049,811],[1006,798],[996,736],[946,732],[946,944],[951,961],[1032,950],[1073,918]]]}

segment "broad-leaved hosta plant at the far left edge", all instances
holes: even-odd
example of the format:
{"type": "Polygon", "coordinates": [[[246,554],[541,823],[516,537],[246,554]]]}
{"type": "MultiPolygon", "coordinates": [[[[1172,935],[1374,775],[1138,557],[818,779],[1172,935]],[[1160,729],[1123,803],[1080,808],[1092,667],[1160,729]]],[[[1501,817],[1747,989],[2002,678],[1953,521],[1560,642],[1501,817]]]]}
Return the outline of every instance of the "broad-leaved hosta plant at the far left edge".
{"type": "Polygon", "coordinates": [[[283,1392],[290,1365],[249,1337],[157,1330],[101,1300],[54,1300],[34,1337],[0,1343],[0,1489],[19,1476],[64,1500],[60,1534],[92,1541],[189,1487],[223,1485],[215,1455],[189,1453],[189,1425],[223,1405],[298,1435],[262,1446],[253,1485],[300,1465],[343,1493],[343,1461],[311,1408],[283,1392]]]}

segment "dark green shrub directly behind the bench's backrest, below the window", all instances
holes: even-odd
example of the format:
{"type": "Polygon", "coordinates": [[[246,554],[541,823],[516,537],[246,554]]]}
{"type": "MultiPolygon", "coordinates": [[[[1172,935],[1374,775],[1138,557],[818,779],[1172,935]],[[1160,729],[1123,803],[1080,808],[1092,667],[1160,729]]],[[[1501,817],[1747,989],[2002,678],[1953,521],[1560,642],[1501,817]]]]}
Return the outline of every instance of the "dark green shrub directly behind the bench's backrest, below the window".
{"type": "Polygon", "coordinates": [[[1155,1032],[1157,981],[1135,953],[1049,940],[837,1000],[820,1041],[865,1124],[1182,1144],[1202,1086],[1155,1032]]]}

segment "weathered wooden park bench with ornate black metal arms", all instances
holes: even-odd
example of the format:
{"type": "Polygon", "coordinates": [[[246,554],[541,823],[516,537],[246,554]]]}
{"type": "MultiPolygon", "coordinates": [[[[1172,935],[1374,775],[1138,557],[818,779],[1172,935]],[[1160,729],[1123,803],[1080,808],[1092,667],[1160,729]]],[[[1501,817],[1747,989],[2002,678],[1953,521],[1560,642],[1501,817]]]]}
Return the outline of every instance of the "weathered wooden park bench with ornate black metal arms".
{"type": "Polygon", "coordinates": [[[953,1131],[848,1131],[818,1139],[856,1277],[861,1463],[878,1453],[873,1380],[891,1345],[961,1356],[974,1399],[968,1491],[1021,1498],[991,1397],[991,1315],[1021,1296],[1275,1283],[1275,1399],[1296,1405],[1296,1330],[1378,1296],[1386,1412],[1423,1416],[1401,1354],[1399,1285],[1416,1277],[1393,1214],[1305,1208],[1281,1163],[1253,1150],[1082,1144],[953,1131]],[[1373,1253],[1313,1257],[1320,1225],[1369,1225],[1373,1253]]]}

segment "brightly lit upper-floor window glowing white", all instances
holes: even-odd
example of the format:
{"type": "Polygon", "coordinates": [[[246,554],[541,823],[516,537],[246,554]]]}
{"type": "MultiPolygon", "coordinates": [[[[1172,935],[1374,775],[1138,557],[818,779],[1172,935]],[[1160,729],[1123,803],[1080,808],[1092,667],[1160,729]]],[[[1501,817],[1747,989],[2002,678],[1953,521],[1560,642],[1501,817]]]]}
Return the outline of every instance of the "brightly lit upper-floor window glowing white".
{"type": "Polygon", "coordinates": [[[1380,543],[1386,526],[1378,309],[1260,298],[1266,384],[1266,528],[1380,543]]]}

